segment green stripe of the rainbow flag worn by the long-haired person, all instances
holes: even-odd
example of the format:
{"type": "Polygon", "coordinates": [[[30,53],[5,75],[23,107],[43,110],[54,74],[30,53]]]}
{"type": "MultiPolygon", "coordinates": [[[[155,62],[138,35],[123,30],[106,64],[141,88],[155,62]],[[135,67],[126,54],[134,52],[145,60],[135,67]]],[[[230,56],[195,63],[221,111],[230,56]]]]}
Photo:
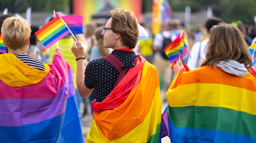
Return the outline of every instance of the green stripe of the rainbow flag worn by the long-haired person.
{"type": "Polygon", "coordinates": [[[256,115],[241,111],[214,106],[168,106],[167,117],[175,127],[219,130],[256,138],[256,115]]]}

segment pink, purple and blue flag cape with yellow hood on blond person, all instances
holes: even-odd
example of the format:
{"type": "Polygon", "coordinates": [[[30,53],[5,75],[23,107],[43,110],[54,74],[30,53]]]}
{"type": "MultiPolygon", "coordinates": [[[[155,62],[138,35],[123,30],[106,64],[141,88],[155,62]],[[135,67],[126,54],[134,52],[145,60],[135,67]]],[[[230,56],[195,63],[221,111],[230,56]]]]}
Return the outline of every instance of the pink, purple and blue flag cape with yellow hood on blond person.
{"type": "Polygon", "coordinates": [[[72,69],[60,56],[45,71],[0,55],[1,142],[83,142],[72,69]]]}

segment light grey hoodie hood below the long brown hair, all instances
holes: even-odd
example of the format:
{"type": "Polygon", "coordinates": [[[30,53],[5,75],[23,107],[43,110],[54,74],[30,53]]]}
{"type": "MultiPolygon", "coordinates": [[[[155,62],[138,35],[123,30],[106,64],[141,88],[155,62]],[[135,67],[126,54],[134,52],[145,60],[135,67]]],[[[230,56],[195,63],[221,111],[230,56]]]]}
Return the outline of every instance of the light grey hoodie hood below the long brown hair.
{"type": "Polygon", "coordinates": [[[238,61],[220,61],[217,63],[217,67],[221,68],[223,71],[234,74],[238,77],[244,77],[247,74],[247,69],[245,64],[241,64],[238,61]]]}

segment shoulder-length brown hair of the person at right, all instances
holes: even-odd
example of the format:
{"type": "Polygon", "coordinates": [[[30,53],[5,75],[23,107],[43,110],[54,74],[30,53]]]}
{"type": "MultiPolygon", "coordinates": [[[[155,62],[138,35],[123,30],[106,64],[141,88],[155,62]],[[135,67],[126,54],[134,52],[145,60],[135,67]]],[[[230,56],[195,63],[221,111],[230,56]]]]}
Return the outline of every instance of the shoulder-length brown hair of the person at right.
{"type": "Polygon", "coordinates": [[[234,25],[220,23],[210,29],[208,47],[205,49],[206,59],[201,64],[216,68],[220,61],[235,60],[245,64],[245,68],[252,66],[251,56],[247,50],[244,35],[234,25]]]}

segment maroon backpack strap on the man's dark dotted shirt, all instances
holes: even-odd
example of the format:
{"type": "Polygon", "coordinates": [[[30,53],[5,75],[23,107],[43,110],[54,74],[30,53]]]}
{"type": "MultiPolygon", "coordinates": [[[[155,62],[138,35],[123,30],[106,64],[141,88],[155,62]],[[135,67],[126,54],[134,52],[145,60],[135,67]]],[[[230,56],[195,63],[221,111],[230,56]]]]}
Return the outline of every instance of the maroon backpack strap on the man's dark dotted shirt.
{"type": "Polygon", "coordinates": [[[115,87],[117,87],[117,85],[120,83],[120,81],[126,75],[126,73],[129,71],[129,69],[135,67],[135,63],[139,59],[139,57],[137,57],[131,65],[124,65],[119,60],[119,58],[117,58],[117,56],[115,56],[113,54],[109,54],[108,56],[105,56],[102,58],[107,60],[119,72],[115,87]]]}

